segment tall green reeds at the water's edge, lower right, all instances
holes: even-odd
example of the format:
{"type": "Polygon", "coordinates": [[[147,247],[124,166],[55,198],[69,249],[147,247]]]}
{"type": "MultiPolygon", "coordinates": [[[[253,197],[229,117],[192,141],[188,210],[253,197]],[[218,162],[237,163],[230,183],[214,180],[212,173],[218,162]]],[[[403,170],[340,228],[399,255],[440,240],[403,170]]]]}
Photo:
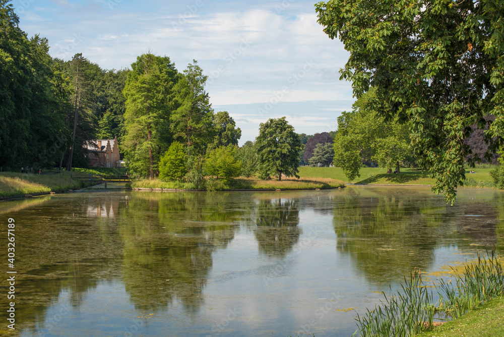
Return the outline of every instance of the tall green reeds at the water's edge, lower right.
{"type": "MultiPolygon", "coordinates": [[[[433,329],[435,317],[458,319],[471,310],[501,299],[504,295],[504,272],[500,256],[495,251],[465,266],[462,273],[455,273],[450,280],[438,279],[434,289],[414,270],[410,279],[405,278],[402,291],[391,293],[374,309],[357,317],[362,337],[414,336],[433,329]],[[433,303],[433,292],[439,300],[433,303]]],[[[457,321],[455,321],[457,322],[457,321]]],[[[467,331],[470,332],[470,331],[467,331]]],[[[460,333],[460,330],[459,330],[460,333]]]]}

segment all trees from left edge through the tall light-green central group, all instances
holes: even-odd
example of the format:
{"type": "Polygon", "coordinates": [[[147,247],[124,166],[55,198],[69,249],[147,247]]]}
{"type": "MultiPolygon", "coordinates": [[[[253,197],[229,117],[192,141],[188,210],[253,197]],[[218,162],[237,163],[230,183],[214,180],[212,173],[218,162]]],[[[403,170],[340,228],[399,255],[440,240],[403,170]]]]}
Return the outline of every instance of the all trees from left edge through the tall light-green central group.
{"type": "Polygon", "coordinates": [[[150,52],[120,70],[81,53],[52,58],[48,40],[28,38],[12,4],[0,0],[0,166],[70,171],[88,165],[93,140],[117,137],[132,170],[152,178],[173,141],[200,157],[237,145],[241,131],[227,111],[214,112],[206,79],[196,61],[178,72],[150,52]]]}

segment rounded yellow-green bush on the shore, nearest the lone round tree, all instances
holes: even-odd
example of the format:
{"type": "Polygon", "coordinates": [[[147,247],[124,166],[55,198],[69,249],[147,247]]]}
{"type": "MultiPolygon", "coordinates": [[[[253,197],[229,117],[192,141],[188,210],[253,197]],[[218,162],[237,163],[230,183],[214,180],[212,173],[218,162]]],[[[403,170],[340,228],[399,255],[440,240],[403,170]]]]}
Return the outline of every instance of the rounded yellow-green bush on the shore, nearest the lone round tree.
{"type": "Polygon", "coordinates": [[[238,150],[234,145],[220,146],[207,154],[204,166],[208,175],[228,180],[238,177],[241,172],[241,160],[238,160],[238,150]]]}

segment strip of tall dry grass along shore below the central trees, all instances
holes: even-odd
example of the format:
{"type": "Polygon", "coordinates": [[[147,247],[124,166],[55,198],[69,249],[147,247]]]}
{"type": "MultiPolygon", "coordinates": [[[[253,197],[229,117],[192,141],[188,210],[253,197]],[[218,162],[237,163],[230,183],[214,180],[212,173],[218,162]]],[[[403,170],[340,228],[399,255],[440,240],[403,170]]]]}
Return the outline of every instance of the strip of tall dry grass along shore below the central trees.
{"type": "MultiPolygon", "coordinates": [[[[229,182],[223,180],[209,179],[207,189],[210,190],[261,190],[261,189],[280,189],[280,190],[301,190],[301,189],[325,189],[338,188],[345,186],[341,180],[331,178],[285,178],[278,180],[260,180],[257,178],[239,177],[229,182]]],[[[155,180],[139,180],[132,182],[133,188],[162,188],[162,189],[194,189],[191,183],[183,182],[163,182],[155,180]]]]}

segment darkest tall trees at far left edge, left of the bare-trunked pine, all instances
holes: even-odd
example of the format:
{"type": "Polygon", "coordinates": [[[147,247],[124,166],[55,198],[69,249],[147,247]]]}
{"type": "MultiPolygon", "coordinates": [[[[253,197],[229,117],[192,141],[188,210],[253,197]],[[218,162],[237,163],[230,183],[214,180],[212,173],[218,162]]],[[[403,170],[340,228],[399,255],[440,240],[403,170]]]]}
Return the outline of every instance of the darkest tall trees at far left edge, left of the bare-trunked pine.
{"type": "Polygon", "coordinates": [[[0,0],[0,166],[4,170],[54,165],[67,140],[71,89],[48,51],[48,40],[38,35],[28,39],[12,4],[0,0]]]}

